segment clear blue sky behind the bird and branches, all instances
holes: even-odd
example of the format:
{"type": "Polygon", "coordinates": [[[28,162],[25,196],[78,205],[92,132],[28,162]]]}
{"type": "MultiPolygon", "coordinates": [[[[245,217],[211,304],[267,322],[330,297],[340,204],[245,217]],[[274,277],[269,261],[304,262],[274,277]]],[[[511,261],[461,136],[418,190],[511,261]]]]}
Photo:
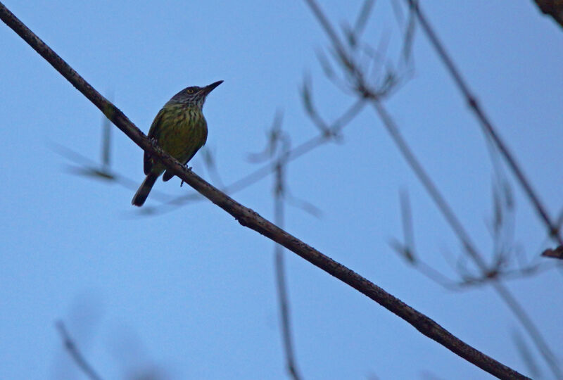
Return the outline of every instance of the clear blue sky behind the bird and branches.
{"type": "MultiPolygon", "coordinates": [[[[207,147],[222,181],[257,165],[277,111],[293,145],[317,134],[299,88],[303,75],[327,120],[353,103],[326,80],[316,51],[328,42],[303,1],[5,1],[4,4],[144,132],[180,89],[224,83],[205,103],[207,147]]],[[[423,4],[462,74],[553,217],[563,202],[563,30],[531,1],[423,4]]],[[[322,1],[351,23],[360,2],[322,1]]],[[[284,379],[273,244],[209,201],[148,217],[134,189],[72,175],[53,144],[99,160],[103,118],[6,25],[0,28],[1,379],[81,379],[61,345],[62,319],[104,379],[158,368],[168,379],[284,379]]],[[[388,1],[364,37],[400,49],[388,1]]],[[[479,125],[419,30],[415,71],[386,101],[405,139],[479,249],[488,232],[493,167],[479,125]]],[[[112,130],[112,170],[141,182],[142,152],[112,130]]],[[[201,155],[191,161],[210,180],[201,155]]],[[[513,184],[514,244],[527,262],[550,246],[513,184]]],[[[417,252],[455,278],[460,244],[372,109],[289,165],[291,193],[322,210],[286,209],[286,229],[433,318],[497,360],[531,374],[512,340],[530,343],[490,286],[452,292],[389,247],[402,236],[398,191],[412,202],[417,252]]],[[[234,198],[272,219],[272,176],[234,198]]],[[[155,190],[182,195],[179,180],[155,190]]],[[[147,207],[158,208],[155,197],[147,207]]],[[[517,267],[517,262],[511,262],[517,267]]],[[[286,253],[293,335],[305,379],[488,378],[460,357],[328,274],[286,253]]],[[[470,267],[470,265],[469,265],[470,267]]],[[[559,359],[561,273],[506,282],[559,359]]],[[[553,376],[533,351],[541,374],[553,376]]]]}

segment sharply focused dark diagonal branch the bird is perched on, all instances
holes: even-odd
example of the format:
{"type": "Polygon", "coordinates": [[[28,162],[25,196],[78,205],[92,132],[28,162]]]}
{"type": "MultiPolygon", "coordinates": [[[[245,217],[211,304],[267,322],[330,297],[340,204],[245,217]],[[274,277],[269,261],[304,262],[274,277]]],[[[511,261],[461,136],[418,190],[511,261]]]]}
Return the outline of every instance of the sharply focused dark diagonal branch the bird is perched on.
{"type": "Polygon", "coordinates": [[[467,343],[464,343],[459,338],[451,334],[449,331],[441,327],[426,315],[411,308],[409,305],[403,303],[398,298],[392,296],[390,293],[384,291],[379,286],[368,281],[364,277],[353,272],[320,253],[315,248],[312,248],[303,241],[297,239],[295,236],[288,234],[283,229],[275,226],[265,218],[255,213],[250,208],[246,208],[240,203],[234,201],[226,194],[222,193],[214,186],[205,182],[201,177],[196,175],[191,170],[186,169],[184,165],[179,163],[175,158],[165,153],[161,148],[153,144],[153,142],[141,132],[118,108],[108,102],[98,91],[91,87],[84,78],[80,77],[75,70],[70,68],[68,63],[58,56],[53,50],[42,42],[37,35],[29,30],[18,18],[13,15],[4,4],[0,3],[0,19],[11,27],[25,42],[30,44],[32,48],[37,51],[43,58],[46,59],[53,68],[63,75],[74,87],[76,87],[84,96],[86,96],[96,107],[98,107],[122,132],[124,132],[135,144],[140,146],[144,151],[151,153],[151,156],[158,158],[184,182],[192,186],[196,191],[208,198],[210,201],[218,205],[223,210],[227,211],[236,220],[245,227],[251,228],[256,232],[267,236],[268,238],[276,241],[282,246],[286,247],[293,253],[301,256],[305,260],[311,262],[313,265],[319,267],[332,276],[340,279],[344,283],[352,286],[354,289],[365,294],[379,305],[387,310],[398,315],[398,317],[405,319],[415,329],[420,331],[425,336],[433,339],[434,341],[445,346],[453,353],[460,355],[465,360],[472,362],[477,367],[484,371],[498,376],[501,379],[528,379],[526,376],[519,374],[510,367],[502,365],[502,363],[494,360],[479,350],[476,350],[467,343]]]}

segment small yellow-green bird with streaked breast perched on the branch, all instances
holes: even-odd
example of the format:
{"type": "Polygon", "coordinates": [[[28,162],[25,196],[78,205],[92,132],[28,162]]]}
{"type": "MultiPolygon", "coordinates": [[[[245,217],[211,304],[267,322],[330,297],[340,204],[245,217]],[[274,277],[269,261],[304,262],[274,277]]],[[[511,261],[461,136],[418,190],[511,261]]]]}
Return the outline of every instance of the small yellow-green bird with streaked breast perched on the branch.
{"type": "MultiPolygon", "coordinates": [[[[148,138],[186,165],[207,140],[207,122],[202,112],[205,97],[222,82],[220,80],[205,87],[187,87],[172,96],[154,118],[148,129],[148,138]]],[[[146,178],[131,201],[139,207],[145,203],[156,179],[163,172],[165,182],[174,177],[163,163],[147,152],[144,153],[144,172],[146,178]]]]}

